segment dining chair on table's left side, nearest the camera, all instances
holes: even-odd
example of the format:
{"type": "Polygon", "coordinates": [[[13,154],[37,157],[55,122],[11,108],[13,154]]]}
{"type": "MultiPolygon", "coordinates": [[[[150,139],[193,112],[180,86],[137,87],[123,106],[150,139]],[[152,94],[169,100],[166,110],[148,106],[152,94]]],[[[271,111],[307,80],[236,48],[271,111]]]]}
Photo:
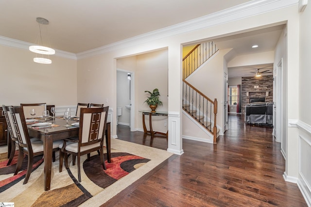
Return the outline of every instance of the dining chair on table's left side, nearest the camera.
{"type": "MultiPolygon", "coordinates": [[[[17,175],[18,171],[20,170],[24,159],[23,154],[26,154],[28,157],[28,164],[27,173],[23,183],[26,184],[33,169],[34,156],[43,155],[43,142],[37,138],[30,138],[22,107],[9,107],[9,109],[12,114],[12,121],[17,135],[19,150],[14,175],[17,175]]],[[[53,141],[54,152],[59,150],[58,146],[60,143],[62,143],[61,140],[53,141]]]]}

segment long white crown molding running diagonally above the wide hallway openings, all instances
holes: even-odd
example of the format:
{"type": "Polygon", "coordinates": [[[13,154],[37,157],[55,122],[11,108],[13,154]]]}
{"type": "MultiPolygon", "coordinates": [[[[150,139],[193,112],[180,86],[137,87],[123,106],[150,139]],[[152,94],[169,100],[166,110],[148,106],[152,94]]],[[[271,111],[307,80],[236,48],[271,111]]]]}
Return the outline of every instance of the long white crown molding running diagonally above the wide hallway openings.
{"type": "Polygon", "coordinates": [[[77,53],[77,58],[82,59],[100,55],[109,51],[128,48],[176,34],[200,30],[249,16],[267,13],[277,9],[293,6],[295,4],[298,4],[298,0],[252,0],[207,16],[201,16],[199,18],[175,24],[170,27],[155,30],[153,32],[147,32],[103,47],[86,50],[84,52],[77,53]]]}

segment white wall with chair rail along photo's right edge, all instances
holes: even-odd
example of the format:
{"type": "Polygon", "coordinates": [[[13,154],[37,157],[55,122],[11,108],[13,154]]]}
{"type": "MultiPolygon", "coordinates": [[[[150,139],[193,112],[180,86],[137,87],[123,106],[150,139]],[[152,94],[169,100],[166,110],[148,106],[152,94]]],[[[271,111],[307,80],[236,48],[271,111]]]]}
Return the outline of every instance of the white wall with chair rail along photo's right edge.
{"type": "MultiPolygon", "coordinates": [[[[310,4],[310,2],[309,2],[310,4]]],[[[311,206],[311,5],[300,15],[299,31],[299,175],[298,186],[311,206]]]]}

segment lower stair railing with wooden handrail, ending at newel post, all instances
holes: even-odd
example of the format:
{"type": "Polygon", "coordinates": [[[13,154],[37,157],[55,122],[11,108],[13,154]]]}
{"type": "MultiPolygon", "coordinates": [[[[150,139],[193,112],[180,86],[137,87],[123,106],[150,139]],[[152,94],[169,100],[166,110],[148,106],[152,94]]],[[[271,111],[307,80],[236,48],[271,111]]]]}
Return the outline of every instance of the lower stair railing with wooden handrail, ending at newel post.
{"type": "Polygon", "coordinates": [[[183,109],[213,135],[213,142],[216,143],[217,99],[211,100],[189,82],[183,80],[183,109]]]}

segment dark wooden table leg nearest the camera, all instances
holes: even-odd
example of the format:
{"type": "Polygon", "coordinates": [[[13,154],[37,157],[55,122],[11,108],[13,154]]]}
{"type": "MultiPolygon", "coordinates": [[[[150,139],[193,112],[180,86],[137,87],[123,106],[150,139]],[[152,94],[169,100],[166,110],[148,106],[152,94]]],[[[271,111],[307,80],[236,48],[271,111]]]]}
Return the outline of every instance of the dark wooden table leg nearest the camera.
{"type": "Polygon", "coordinates": [[[45,136],[43,140],[43,159],[44,159],[44,190],[49,191],[51,187],[51,172],[52,172],[52,151],[53,137],[52,135],[45,136]]]}

